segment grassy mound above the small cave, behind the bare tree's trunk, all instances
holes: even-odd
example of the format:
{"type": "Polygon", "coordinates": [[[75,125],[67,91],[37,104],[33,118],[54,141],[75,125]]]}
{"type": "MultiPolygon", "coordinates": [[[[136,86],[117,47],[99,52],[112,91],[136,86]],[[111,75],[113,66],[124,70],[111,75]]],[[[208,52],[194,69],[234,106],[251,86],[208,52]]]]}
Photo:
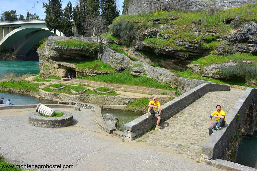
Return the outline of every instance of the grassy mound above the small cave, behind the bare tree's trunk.
{"type": "Polygon", "coordinates": [[[89,61],[89,62],[81,62],[79,64],[76,64],[75,67],[79,69],[93,69],[96,71],[108,71],[108,72],[115,72],[115,69],[105,64],[103,61],[89,61]]]}

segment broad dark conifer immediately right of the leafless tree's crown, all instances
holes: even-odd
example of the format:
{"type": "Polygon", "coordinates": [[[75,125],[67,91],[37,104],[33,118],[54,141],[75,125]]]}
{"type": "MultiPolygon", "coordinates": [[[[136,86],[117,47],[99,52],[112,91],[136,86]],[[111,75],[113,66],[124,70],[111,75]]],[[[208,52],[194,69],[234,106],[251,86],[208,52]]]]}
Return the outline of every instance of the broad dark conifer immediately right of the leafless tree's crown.
{"type": "Polygon", "coordinates": [[[102,17],[105,18],[108,24],[112,23],[112,20],[119,16],[120,11],[117,10],[117,6],[114,0],[102,0],[101,1],[102,17]]]}

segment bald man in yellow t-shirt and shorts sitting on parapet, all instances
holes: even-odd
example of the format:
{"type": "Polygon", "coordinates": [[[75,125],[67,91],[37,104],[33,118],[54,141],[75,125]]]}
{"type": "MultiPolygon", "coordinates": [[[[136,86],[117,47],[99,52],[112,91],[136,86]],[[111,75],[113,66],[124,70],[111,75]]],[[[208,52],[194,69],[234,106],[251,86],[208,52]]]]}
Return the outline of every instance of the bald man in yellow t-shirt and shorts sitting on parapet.
{"type": "Polygon", "coordinates": [[[147,115],[146,118],[148,118],[149,116],[149,112],[151,112],[151,114],[155,114],[155,117],[157,117],[157,123],[156,123],[156,127],[155,130],[161,131],[161,129],[158,128],[159,123],[161,121],[161,105],[159,103],[159,101],[157,101],[157,97],[154,97],[153,100],[151,100],[148,104],[148,111],[147,111],[147,115]],[[158,112],[158,108],[159,108],[159,112],[158,112]]]}

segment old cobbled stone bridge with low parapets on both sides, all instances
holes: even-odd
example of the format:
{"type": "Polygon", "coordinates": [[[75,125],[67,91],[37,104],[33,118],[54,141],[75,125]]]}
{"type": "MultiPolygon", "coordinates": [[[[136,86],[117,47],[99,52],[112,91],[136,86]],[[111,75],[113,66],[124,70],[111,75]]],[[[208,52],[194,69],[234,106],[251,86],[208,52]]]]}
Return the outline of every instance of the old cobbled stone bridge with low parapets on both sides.
{"type": "Polygon", "coordinates": [[[146,119],[145,114],[124,125],[123,138],[170,148],[177,154],[195,160],[201,158],[204,163],[225,170],[251,170],[242,165],[243,169],[238,169],[239,164],[233,162],[240,137],[253,135],[257,130],[257,89],[228,89],[227,85],[201,84],[161,106],[161,132],[151,130],[157,118],[150,114],[146,119]],[[209,116],[217,105],[226,113],[227,124],[209,136],[209,116]]]}

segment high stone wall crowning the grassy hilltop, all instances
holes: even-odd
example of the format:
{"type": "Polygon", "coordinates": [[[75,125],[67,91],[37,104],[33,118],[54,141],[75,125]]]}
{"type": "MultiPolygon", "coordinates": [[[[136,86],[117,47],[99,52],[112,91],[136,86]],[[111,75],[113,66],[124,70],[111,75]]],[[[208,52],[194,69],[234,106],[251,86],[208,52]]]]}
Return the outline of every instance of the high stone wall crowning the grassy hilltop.
{"type": "Polygon", "coordinates": [[[255,4],[257,0],[230,0],[230,1],[202,1],[202,0],[130,0],[128,14],[149,13],[154,10],[164,9],[165,6],[177,7],[185,11],[201,11],[204,9],[230,9],[255,4]]]}

